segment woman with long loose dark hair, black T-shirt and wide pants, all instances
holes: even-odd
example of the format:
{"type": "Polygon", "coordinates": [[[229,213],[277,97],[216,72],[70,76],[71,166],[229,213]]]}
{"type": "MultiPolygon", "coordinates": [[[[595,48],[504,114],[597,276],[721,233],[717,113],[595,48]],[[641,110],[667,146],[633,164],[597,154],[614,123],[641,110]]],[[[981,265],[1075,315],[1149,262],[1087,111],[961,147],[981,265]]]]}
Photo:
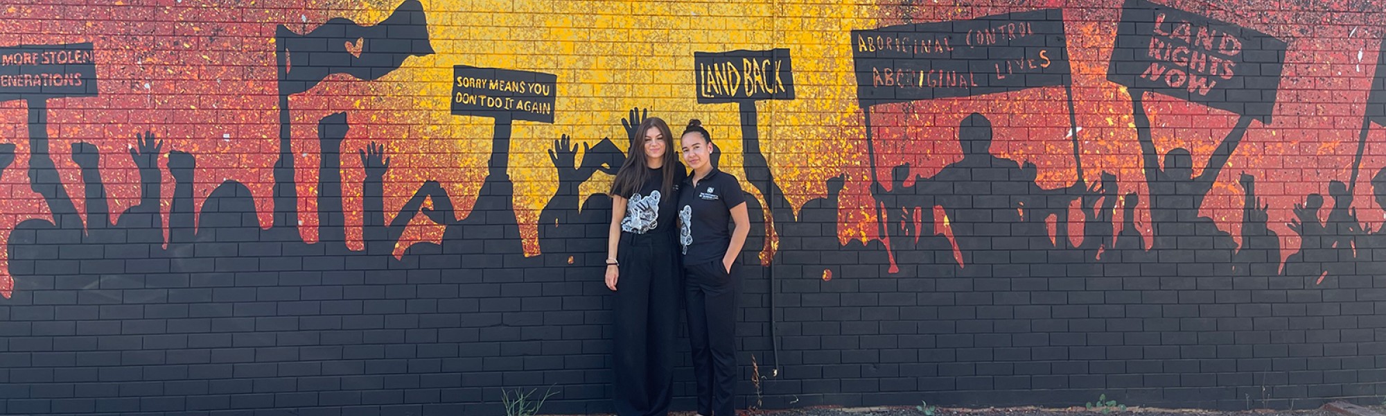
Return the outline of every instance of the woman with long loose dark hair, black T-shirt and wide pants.
{"type": "Polygon", "coordinates": [[[611,183],[607,288],[615,293],[613,399],[620,416],[668,415],[682,273],[675,233],[686,175],[669,125],[640,122],[611,183]]]}

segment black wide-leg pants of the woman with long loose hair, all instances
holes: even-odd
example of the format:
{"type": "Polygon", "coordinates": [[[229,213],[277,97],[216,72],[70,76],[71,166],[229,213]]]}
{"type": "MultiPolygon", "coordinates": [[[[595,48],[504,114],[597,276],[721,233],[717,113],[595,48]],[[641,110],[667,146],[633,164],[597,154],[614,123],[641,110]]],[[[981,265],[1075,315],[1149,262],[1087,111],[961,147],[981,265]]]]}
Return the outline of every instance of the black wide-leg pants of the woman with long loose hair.
{"type": "Polygon", "coordinates": [[[620,416],[664,416],[669,410],[683,286],[674,239],[674,233],[621,233],[613,340],[613,399],[620,416]]]}

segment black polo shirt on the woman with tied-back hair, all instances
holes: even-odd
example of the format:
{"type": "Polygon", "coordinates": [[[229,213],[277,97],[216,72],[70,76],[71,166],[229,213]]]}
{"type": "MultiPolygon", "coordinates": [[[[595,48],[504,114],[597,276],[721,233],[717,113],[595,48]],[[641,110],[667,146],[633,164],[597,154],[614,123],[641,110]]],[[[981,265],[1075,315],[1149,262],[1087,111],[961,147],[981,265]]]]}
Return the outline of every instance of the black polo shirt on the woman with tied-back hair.
{"type": "Polygon", "coordinates": [[[746,202],[736,176],[712,168],[694,186],[694,175],[689,173],[679,187],[679,244],[685,265],[721,261],[726,255],[732,245],[732,208],[746,202]]]}

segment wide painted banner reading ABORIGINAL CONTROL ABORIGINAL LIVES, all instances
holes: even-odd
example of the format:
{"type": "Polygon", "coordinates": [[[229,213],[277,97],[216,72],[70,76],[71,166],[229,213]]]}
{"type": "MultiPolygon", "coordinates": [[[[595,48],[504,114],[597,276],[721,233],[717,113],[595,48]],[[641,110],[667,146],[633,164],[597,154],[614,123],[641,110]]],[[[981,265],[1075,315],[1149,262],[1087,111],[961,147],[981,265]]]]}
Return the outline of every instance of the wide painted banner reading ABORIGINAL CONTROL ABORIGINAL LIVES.
{"type": "Polygon", "coordinates": [[[862,105],[966,97],[1069,82],[1058,8],[852,31],[862,105]]]}

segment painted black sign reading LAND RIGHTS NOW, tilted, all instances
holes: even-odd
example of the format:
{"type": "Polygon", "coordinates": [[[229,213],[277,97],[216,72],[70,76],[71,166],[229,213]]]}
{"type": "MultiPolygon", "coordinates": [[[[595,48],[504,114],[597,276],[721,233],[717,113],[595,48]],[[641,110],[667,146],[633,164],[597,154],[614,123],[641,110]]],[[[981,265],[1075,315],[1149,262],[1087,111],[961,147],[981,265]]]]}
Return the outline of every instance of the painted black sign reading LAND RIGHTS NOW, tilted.
{"type": "Polygon", "coordinates": [[[1107,79],[1271,122],[1285,42],[1146,0],[1127,0],[1107,79]]]}

